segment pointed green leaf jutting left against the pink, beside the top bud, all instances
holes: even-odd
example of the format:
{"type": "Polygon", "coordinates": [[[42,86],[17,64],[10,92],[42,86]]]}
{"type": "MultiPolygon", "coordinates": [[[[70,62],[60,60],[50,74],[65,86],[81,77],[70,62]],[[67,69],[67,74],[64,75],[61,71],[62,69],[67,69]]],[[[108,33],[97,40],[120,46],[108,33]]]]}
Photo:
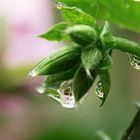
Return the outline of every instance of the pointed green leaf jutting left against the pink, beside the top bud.
{"type": "Polygon", "coordinates": [[[51,41],[60,41],[60,40],[66,40],[68,39],[68,35],[65,33],[65,30],[69,27],[69,25],[65,22],[58,23],[54,25],[52,28],[48,30],[47,33],[44,33],[40,35],[39,37],[42,37],[47,40],[51,41]]]}

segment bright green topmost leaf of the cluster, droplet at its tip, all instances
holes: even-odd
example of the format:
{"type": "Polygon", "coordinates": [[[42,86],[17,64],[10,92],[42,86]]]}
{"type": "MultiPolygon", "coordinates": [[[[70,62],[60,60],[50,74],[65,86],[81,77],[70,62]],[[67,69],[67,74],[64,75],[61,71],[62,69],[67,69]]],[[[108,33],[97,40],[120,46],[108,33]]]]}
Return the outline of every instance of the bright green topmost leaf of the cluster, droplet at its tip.
{"type": "Polygon", "coordinates": [[[92,16],[76,7],[63,6],[60,8],[60,11],[64,20],[70,24],[84,24],[89,26],[95,24],[95,19],[92,16]]]}

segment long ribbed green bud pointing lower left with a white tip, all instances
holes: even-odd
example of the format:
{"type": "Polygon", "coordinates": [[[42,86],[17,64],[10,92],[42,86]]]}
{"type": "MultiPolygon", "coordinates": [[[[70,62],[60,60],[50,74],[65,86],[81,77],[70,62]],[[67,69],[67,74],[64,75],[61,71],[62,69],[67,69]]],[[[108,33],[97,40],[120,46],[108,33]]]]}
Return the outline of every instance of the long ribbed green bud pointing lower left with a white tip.
{"type": "Polygon", "coordinates": [[[67,71],[80,61],[81,47],[77,45],[60,48],[50,57],[43,59],[29,75],[51,75],[67,71]]]}

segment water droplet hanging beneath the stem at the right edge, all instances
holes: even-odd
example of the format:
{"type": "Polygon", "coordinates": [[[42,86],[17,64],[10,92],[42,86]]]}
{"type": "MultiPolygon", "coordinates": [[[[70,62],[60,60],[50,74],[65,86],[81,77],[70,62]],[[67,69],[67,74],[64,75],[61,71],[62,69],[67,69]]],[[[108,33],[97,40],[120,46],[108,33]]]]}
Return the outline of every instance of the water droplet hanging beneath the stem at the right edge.
{"type": "Polygon", "coordinates": [[[140,57],[133,54],[128,54],[128,57],[131,66],[137,70],[140,70],[140,57]]]}

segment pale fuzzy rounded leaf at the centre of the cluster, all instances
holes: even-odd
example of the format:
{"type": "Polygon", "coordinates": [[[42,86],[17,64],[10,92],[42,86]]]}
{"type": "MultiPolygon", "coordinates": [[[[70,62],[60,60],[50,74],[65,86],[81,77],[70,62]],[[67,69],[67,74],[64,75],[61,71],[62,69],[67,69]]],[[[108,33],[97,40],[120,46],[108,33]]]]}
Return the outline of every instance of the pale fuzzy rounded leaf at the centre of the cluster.
{"type": "Polygon", "coordinates": [[[95,69],[102,60],[102,53],[94,46],[86,47],[82,51],[82,63],[86,70],[95,69]]]}

